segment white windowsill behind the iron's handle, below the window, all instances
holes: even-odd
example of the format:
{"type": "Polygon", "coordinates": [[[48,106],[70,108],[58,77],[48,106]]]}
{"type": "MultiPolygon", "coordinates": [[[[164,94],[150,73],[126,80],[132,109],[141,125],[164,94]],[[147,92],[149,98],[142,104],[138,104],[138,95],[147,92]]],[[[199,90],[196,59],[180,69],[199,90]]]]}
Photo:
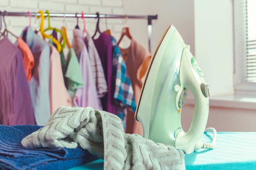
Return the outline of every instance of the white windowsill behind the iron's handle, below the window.
{"type": "MultiPolygon", "coordinates": [[[[186,104],[194,105],[194,99],[189,95],[186,99],[186,104]]],[[[221,95],[209,97],[209,106],[225,107],[225,108],[240,108],[256,110],[256,97],[247,97],[241,95],[221,95]]]]}

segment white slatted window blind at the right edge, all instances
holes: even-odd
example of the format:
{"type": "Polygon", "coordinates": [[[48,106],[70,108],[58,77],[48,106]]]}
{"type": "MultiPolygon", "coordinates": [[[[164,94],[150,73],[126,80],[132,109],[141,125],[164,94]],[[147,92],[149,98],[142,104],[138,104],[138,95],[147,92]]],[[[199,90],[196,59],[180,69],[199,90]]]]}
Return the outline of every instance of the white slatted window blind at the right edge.
{"type": "Polygon", "coordinates": [[[247,0],[247,82],[256,82],[256,0],[247,0]]]}

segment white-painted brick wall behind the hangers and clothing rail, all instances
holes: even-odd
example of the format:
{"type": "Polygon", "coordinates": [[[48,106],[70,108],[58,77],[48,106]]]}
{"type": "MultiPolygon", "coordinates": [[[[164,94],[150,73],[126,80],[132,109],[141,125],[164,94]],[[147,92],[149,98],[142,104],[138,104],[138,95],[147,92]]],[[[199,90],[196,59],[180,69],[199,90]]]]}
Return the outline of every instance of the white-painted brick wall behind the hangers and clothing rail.
{"type": "MultiPolygon", "coordinates": [[[[50,13],[96,13],[100,14],[124,14],[124,0],[0,0],[0,11],[13,12],[38,12],[39,10],[49,10],[50,13]]],[[[29,23],[28,17],[11,17],[5,18],[8,29],[15,35],[20,35],[22,29],[29,23]]],[[[86,28],[90,35],[94,34],[96,19],[85,18],[86,28]]],[[[31,18],[31,26],[34,26],[35,17],[31,18]]],[[[36,28],[39,29],[40,20],[36,21],[36,28]]],[[[47,22],[45,20],[45,26],[47,22]]],[[[112,35],[119,39],[121,28],[124,24],[124,19],[107,19],[107,27],[111,30],[112,35]]],[[[51,26],[61,28],[63,18],[51,18],[51,26]]],[[[72,41],[73,29],[76,26],[76,18],[65,18],[65,26],[67,35],[72,41]]],[[[79,26],[83,29],[83,21],[79,18],[79,26]]],[[[100,20],[100,30],[106,30],[106,20],[100,20]]],[[[11,35],[9,39],[15,41],[11,35]]]]}

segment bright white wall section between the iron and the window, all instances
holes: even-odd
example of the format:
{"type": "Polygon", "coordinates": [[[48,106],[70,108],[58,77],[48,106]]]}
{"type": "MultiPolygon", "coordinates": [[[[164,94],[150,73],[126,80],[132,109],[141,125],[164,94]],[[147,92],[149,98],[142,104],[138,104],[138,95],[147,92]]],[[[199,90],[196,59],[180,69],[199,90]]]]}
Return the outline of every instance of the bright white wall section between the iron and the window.
{"type": "Polygon", "coordinates": [[[234,93],[232,0],[195,0],[195,56],[210,94],[234,93]]]}

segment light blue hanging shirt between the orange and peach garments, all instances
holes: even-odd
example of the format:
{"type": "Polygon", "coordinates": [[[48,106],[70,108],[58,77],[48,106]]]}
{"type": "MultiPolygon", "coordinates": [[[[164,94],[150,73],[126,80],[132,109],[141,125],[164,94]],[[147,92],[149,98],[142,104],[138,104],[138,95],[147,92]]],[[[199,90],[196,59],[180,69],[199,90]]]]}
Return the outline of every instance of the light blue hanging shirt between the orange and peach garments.
{"type": "MultiPolygon", "coordinates": [[[[26,32],[25,30],[22,31],[22,35],[26,32]]],[[[50,49],[48,44],[36,35],[31,27],[27,29],[25,42],[31,49],[35,61],[34,68],[32,69],[32,77],[29,81],[29,88],[36,124],[45,125],[50,117],[50,49]]]]}

